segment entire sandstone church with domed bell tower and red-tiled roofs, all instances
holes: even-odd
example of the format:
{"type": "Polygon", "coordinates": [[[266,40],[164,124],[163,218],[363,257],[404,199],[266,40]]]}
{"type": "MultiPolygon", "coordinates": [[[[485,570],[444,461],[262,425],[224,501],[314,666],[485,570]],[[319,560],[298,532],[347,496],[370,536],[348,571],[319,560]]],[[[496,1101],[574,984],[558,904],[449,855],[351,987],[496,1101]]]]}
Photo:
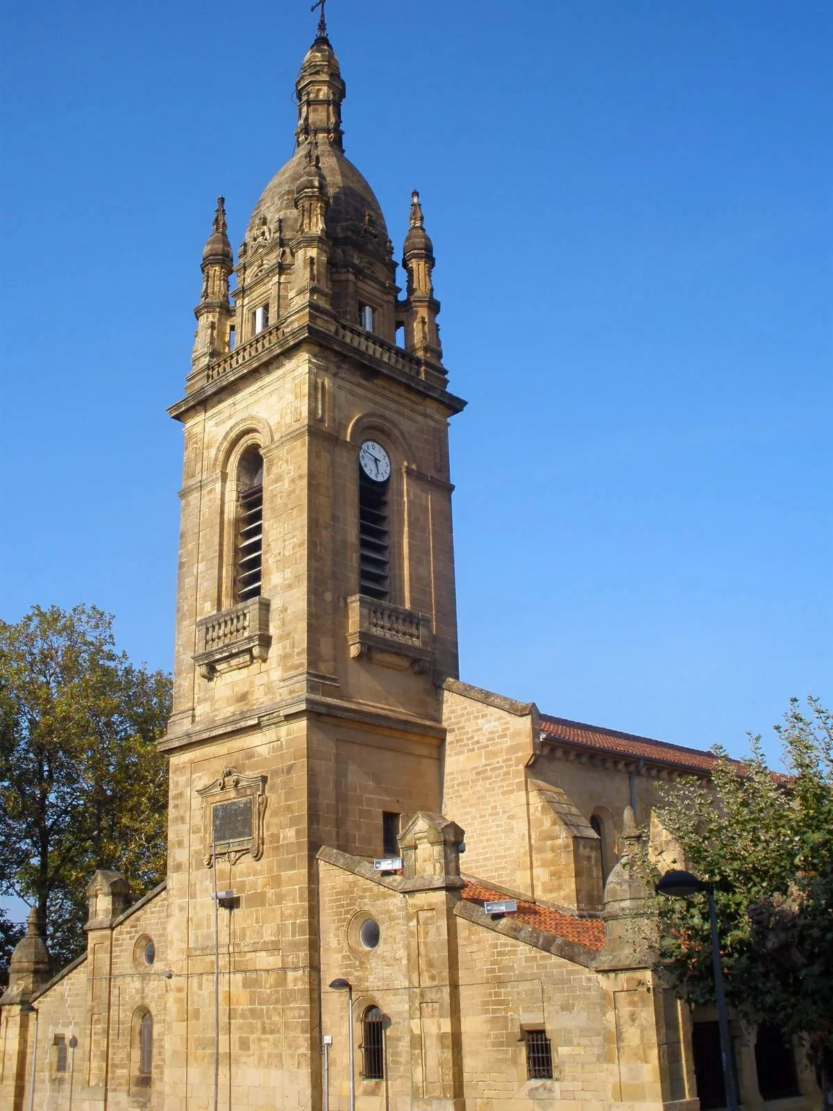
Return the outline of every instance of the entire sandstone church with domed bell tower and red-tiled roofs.
{"type": "MultiPolygon", "coordinates": [[[[640,831],[673,857],[658,781],[714,759],[460,680],[465,402],[426,218],[403,198],[401,290],[323,21],[295,90],[294,153],[237,258],[218,200],[169,410],[167,880],[98,871],[86,951],[57,974],[32,914],[0,1000],[0,1108],[720,1107],[714,1015],[652,968],[629,868],[640,831]]],[[[800,1057],[732,1032],[746,1111],[820,1108],[800,1057]]]]}

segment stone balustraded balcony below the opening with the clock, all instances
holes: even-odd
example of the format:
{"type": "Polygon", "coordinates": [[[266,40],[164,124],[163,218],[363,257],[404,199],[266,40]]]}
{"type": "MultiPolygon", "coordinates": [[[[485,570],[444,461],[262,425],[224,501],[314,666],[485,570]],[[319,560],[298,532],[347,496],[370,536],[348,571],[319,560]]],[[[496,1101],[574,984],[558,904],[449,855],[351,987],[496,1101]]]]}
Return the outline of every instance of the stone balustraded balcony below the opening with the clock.
{"type": "Polygon", "coordinates": [[[405,661],[416,672],[428,670],[434,644],[431,618],[367,594],[348,598],[348,644],[353,660],[367,657],[389,667],[390,655],[405,661]]]}

